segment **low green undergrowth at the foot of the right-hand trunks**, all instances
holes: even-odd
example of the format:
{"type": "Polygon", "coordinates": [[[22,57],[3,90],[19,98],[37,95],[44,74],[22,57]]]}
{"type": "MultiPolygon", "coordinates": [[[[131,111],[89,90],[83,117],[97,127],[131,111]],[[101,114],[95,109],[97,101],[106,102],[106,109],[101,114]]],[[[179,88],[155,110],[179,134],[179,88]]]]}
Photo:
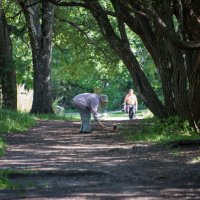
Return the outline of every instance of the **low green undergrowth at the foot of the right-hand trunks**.
{"type": "Polygon", "coordinates": [[[126,126],[122,133],[131,141],[167,143],[185,139],[200,139],[187,121],[170,117],[163,121],[157,118],[145,119],[142,124],[126,126]]]}

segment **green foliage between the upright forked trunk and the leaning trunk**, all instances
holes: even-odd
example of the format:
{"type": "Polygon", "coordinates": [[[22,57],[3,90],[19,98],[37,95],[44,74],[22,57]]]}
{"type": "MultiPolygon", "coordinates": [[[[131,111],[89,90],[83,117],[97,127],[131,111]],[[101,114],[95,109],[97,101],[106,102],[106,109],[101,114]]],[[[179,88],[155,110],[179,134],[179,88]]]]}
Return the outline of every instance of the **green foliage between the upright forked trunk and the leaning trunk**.
{"type": "Polygon", "coordinates": [[[99,90],[108,94],[109,109],[120,109],[131,78],[93,17],[82,8],[57,8],[55,21],[53,99],[63,96],[70,107],[75,95],[99,90]]]}

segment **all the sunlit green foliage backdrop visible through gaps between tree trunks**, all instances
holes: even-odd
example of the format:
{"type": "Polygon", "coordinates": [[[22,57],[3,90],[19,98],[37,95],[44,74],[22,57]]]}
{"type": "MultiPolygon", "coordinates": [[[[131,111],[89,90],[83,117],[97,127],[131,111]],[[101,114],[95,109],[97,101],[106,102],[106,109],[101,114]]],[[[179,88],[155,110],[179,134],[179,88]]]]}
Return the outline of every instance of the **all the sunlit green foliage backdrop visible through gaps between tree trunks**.
{"type": "MultiPolygon", "coordinates": [[[[110,2],[101,1],[104,8],[113,10],[110,2]]],[[[13,57],[16,66],[17,84],[32,88],[33,69],[30,41],[25,19],[18,12],[19,6],[11,2],[6,9],[8,23],[12,29],[13,57]]],[[[117,22],[110,17],[117,32],[117,22]]],[[[52,51],[52,98],[63,96],[71,109],[70,101],[76,94],[94,92],[97,88],[109,96],[109,110],[121,109],[121,103],[130,88],[132,79],[116,54],[108,46],[99,32],[99,27],[91,14],[78,7],[56,7],[52,51]]],[[[160,83],[151,57],[141,40],[127,28],[131,48],[143,66],[156,92],[160,83]]],[[[135,88],[134,88],[135,89],[135,88]]],[[[140,99],[139,99],[140,101],[140,99]]]]}

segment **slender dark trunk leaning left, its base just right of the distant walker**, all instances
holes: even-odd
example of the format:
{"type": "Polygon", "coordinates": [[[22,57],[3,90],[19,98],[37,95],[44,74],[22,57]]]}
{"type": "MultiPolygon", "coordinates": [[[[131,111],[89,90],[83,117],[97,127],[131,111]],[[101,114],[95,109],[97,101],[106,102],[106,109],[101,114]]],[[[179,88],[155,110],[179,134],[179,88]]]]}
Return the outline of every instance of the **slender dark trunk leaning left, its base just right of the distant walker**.
{"type": "Polygon", "coordinates": [[[91,3],[89,8],[96,19],[104,38],[107,40],[111,48],[114,49],[114,51],[122,59],[129,70],[129,73],[131,74],[131,77],[133,78],[133,81],[137,87],[137,91],[145,105],[156,116],[160,118],[167,117],[165,107],[156,96],[137,59],[132,53],[130,46],[125,43],[123,38],[120,39],[115,34],[112,26],[109,23],[106,13],[98,3],[91,3]]]}

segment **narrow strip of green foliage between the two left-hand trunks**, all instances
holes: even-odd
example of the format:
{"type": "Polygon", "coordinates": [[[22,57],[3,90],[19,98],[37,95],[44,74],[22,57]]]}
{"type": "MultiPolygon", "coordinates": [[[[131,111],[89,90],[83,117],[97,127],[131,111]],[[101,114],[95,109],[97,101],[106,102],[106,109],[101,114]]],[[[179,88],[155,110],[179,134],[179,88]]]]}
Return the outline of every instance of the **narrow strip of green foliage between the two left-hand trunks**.
{"type": "Polygon", "coordinates": [[[10,28],[17,84],[23,83],[27,89],[32,88],[32,55],[23,12],[14,1],[4,1],[3,7],[10,28]]]}

